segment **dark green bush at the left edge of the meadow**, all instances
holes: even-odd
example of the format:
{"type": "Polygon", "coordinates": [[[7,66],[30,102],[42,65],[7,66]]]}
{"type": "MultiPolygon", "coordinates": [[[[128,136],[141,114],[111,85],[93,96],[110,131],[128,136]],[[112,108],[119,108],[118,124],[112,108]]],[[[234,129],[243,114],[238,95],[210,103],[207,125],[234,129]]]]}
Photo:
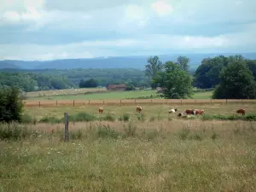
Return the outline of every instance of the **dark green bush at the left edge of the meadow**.
{"type": "Polygon", "coordinates": [[[2,87],[0,89],[0,121],[21,121],[23,102],[20,90],[15,87],[2,87]]]}

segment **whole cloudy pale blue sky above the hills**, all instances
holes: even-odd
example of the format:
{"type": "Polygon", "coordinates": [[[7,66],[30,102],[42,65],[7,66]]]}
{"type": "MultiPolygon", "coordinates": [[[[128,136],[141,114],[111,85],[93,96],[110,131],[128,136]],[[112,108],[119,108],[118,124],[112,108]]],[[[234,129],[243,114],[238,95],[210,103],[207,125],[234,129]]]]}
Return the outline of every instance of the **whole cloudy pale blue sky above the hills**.
{"type": "Polygon", "coordinates": [[[0,60],[256,52],[255,0],[2,0],[0,60]]]}

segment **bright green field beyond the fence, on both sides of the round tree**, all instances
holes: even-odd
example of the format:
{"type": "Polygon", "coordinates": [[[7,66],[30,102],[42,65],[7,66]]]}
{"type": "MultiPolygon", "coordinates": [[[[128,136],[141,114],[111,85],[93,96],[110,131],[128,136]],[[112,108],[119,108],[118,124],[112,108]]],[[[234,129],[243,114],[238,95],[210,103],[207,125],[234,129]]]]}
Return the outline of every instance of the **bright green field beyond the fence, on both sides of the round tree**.
{"type": "MultiPolygon", "coordinates": [[[[40,97],[36,96],[36,92],[33,93],[27,93],[27,96],[30,96],[30,100],[82,100],[82,99],[90,99],[90,100],[102,100],[102,99],[143,99],[143,98],[160,98],[158,94],[156,94],[156,90],[131,90],[131,91],[111,91],[111,92],[105,92],[106,90],[101,90],[102,92],[97,92],[99,90],[90,90],[90,89],[81,89],[80,93],[85,94],[78,94],[79,92],[76,91],[75,93],[71,92],[71,90],[66,93],[65,90],[59,90],[59,92],[54,92],[51,90],[51,92],[44,91],[43,93],[40,93],[40,97]],[[52,96],[53,93],[58,93],[59,95],[63,96],[52,96]],[[65,93],[65,95],[64,95],[65,93]],[[42,95],[44,94],[44,95],[42,95]],[[35,95],[35,96],[34,96],[35,95]]],[[[39,93],[38,93],[39,94],[39,93]]],[[[212,96],[212,91],[202,91],[202,92],[195,92],[193,95],[194,99],[210,99],[212,96]]]]}

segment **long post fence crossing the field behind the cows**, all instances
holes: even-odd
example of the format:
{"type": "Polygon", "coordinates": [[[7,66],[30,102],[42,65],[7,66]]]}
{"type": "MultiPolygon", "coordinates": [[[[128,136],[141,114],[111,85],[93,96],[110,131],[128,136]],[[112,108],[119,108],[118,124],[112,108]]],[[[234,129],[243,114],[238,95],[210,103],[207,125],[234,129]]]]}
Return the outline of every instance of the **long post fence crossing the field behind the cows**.
{"type": "Polygon", "coordinates": [[[143,104],[166,104],[166,105],[202,105],[202,104],[246,104],[256,103],[250,99],[124,99],[124,100],[60,100],[60,101],[33,101],[26,100],[26,107],[54,107],[54,106],[104,106],[104,105],[143,105],[143,104]]]}

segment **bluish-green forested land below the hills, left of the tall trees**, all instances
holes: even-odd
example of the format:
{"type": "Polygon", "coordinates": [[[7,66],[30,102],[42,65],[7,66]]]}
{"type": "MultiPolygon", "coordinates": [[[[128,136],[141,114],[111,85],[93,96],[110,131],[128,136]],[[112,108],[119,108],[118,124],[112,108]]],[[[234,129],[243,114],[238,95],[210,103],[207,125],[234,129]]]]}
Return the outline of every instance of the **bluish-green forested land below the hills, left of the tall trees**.
{"type": "Polygon", "coordinates": [[[45,69],[18,70],[3,69],[0,72],[0,84],[18,86],[24,91],[61,90],[79,87],[81,79],[96,79],[98,84],[134,84],[148,86],[147,78],[138,69],[45,69]]]}

